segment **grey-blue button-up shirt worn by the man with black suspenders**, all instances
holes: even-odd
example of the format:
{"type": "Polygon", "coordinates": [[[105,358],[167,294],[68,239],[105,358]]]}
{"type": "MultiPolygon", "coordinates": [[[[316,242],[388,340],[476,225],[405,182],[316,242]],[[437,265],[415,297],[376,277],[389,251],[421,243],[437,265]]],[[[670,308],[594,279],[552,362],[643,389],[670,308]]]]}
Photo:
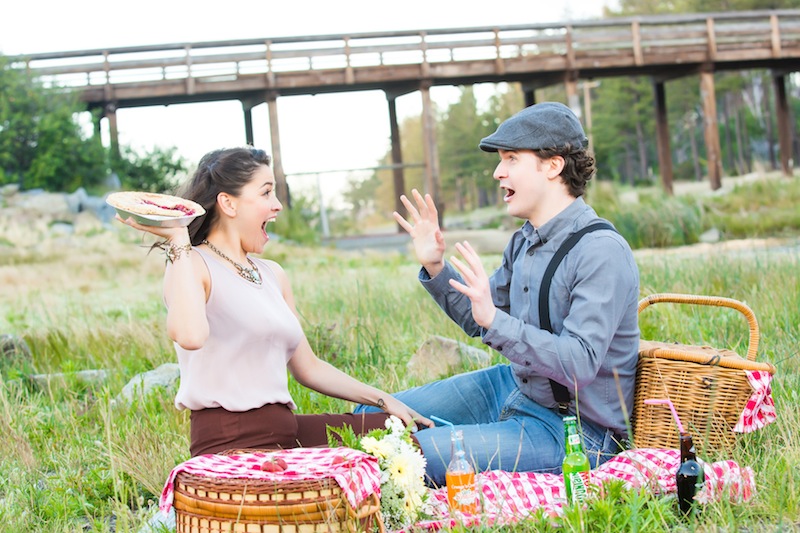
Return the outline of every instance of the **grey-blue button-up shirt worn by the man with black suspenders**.
{"type": "Polygon", "coordinates": [[[639,271],[622,236],[611,230],[583,236],[553,277],[553,333],[539,325],[539,286],[547,264],[571,234],[601,220],[578,198],[539,228],[525,222],[490,277],[497,314],[488,329],[473,320],[469,298],[450,287],[450,279],[461,281],[450,263],[435,278],[423,268],[419,279],[467,334],[481,335],[509,360],[525,395],[555,409],[552,379],[570,391],[571,412],[577,390],[582,418],[624,436],[625,413],[633,412],[638,361],[639,271]]]}

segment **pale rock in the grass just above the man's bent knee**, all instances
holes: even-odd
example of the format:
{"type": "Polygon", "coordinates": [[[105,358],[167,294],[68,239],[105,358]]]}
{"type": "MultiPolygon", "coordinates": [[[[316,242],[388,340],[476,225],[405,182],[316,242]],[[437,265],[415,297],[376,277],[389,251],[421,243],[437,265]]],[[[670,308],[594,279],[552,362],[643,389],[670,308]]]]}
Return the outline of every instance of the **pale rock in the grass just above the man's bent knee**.
{"type": "Polygon", "coordinates": [[[491,356],[486,351],[434,335],[422,343],[406,368],[411,377],[431,381],[448,376],[464,365],[486,366],[490,360],[491,356]]]}

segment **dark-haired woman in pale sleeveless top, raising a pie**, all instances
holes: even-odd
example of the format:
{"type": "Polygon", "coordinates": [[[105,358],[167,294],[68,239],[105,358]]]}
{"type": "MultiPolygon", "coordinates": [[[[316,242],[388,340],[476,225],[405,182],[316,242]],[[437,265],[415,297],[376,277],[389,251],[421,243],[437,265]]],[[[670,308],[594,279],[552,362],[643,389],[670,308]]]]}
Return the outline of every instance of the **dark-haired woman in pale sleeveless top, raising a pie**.
{"type": "Polygon", "coordinates": [[[178,409],[191,410],[191,454],[231,448],[323,446],[326,426],[363,434],[389,415],[433,425],[391,395],[317,358],[300,326],[283,269],[260,255],[267,224],[283,208],[270,157],[233,148],[206,154],[181,196],[206,214],[188,228],[143,226],[165,239],[167,332],[181,383],[178,409]],[[320,393],[380,407],[369,415],[295,415],[286,370],[320,393]]]}

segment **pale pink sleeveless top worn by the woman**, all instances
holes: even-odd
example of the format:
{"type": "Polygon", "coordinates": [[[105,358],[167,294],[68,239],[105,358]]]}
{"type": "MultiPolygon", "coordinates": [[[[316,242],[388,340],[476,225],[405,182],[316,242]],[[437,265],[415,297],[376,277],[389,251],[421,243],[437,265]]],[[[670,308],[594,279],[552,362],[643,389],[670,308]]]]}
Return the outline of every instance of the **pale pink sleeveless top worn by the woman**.
{"type": "Polygon", "coordinates": [[[199,350],[175,343],[181,381],[178,409],[223,407],[247,411],[268,403],[297,406],[289,394],[286,364],[303,338],[267,263],[252,258],[264,282],[251,283],[201,249],[211,291],[206,302],[210,335],[199,350]]]}

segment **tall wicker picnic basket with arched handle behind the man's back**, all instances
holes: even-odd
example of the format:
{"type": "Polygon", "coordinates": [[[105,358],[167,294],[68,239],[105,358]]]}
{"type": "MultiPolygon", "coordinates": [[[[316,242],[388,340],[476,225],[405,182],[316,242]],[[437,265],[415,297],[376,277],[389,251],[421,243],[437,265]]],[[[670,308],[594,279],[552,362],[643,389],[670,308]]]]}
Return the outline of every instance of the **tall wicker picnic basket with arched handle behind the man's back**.
{"type": "Polygon", "coordinates": [[[680,436],[672,413],[647,399],[670,399],[687,431],[703,453],[730,451],[733,428],[753,387],[745,371],[775,373],[769,363],[755,361],[759,329],[753,311],[731,298],[689,294],[653,294],[639,302],[639,313],[660,302],[728,307],[747,319],[750,340],[743,358],[727,349],[642,340],[636,371],[633,443],[637,448],[679,448],[680,436]]]}

